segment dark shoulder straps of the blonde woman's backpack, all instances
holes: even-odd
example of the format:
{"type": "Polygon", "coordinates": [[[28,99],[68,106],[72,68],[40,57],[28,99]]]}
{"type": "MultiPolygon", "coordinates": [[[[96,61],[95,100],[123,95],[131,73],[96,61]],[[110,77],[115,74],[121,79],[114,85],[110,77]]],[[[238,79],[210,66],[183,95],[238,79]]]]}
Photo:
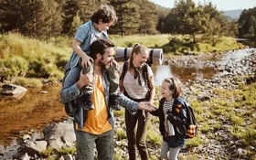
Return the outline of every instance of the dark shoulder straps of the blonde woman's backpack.
{"type": "MultiPolygon", "coordinates": [[[[147,91],[150,91],[149,82],[148,82],[148,75],[147,75],[147,66],[148,66],[148,64],[145,63],[144,66],[142,67],[142,73],[143,73],[143,78],[144,78],[144,82],[146,84],[145,86],[147,88],[147,91]]],[[[123,63],[123,70],[122,70],[122,73],[121,73],[121,76],[120,76],[120,80],[123,81],[125,73],[127,72],[127,70],[128,70],[128,60],[126,60],[123,63]]]]}

